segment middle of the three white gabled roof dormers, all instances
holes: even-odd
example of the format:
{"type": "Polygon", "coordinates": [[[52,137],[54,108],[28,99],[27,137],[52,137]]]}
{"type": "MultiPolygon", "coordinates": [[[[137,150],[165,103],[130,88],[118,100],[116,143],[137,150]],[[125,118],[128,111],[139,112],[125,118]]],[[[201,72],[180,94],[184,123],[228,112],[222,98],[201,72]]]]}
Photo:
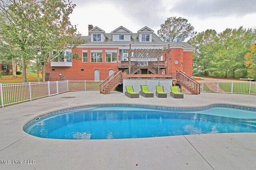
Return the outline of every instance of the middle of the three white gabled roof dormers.
{"type": "Polygon", "coordinates": [[[112,41],[131,41],[132,31],[123,26],[111,31],[112,41]]]}

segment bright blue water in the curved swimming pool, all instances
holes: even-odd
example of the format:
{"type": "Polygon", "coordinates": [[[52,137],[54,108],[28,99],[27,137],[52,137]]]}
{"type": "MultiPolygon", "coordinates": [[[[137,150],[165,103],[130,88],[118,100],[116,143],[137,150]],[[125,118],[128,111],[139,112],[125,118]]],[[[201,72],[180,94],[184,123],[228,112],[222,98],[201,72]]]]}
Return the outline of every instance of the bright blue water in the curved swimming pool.
{"type": "Polygon", "coordinates": [[[256,111],[225,107],[204,110],[85,107],[42,117],[25,125],[24,131],[52,139],[124,139],[256,132],[256,111]]]}

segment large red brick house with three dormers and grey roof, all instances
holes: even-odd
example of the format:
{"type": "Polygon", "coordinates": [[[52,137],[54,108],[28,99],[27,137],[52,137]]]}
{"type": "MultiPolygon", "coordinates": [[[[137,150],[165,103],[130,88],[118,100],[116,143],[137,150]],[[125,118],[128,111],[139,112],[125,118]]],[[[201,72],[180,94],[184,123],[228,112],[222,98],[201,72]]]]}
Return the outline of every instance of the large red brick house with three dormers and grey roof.
{"type": "MultiPolygon", "coordinates": [[[[46,72],[50,72],[50,81],[66,78],[68,80],[105,80],[114,71],[125,71],[128,66],[129,49],[166,49],[170,48],[169,59],[167,54],[156,58],[132,58],[132,64],[160,63],[164,73],[181,70],[192,76],[192,60],[194,47],[188,43],[163,42],[152,29],[143,27],[137,33],[120,26],[111,33],[106,33],[99,27],[88,25],[88,36],[81,36],[86,40],[75,49],[67,49],[64,55],[78,53],[81,60],[64,59],[49,63],[46,72]],[[169,60],[169,61],[168,61],[169,60]],[[168,61],[168,62],[167,62],[168,61]],[[167,66],[169,63],[169,66],[167,66]],[[169,69],[169,70],[167,70],[169,69]]],[[[156,64],[157,65],[157,64],[156,64]]],[[[146,67],[144,67],[146,68],[146,67]]],[[[140,69],[133,74],[154,74],[152,70],[140,69]]]]}

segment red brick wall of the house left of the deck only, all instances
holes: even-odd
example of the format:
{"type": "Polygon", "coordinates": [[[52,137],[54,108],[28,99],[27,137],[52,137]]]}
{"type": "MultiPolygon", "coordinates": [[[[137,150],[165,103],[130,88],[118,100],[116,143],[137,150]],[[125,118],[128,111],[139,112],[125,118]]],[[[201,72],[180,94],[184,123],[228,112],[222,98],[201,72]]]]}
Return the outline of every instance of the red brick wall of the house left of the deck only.
{"type": "MultiPolygon", "coordinates": [[[[51,67],[48,63],[46,67],[46,72],[50,72],[50,81],[60,80],[60,75],[63,74],[63,78],[68,80],[94,80],[94,70],[98,69],[100,71],[100,80],[105,80],[108,78],[108,71],[110,69],[116,71],[117,63],[106,63],[105,50],[117,51],[118,48],[76,48],[72,49],[72,53],[78,53],[81,60],[72,59],[72,67],[67,66],[55,66],[51,67]],[[88,63],[82,63],[82,51],[87,50],[88,63]],[[102,50],[102,63],[91,63],[90,51],[91,50],[102,50]],[[54,69],[54,71],[52,71],[54,69]],[[84,69],[84,71],[81,71],[84,69]]],[[[118,54],[117,54],[118,56],[118,54]]]]}

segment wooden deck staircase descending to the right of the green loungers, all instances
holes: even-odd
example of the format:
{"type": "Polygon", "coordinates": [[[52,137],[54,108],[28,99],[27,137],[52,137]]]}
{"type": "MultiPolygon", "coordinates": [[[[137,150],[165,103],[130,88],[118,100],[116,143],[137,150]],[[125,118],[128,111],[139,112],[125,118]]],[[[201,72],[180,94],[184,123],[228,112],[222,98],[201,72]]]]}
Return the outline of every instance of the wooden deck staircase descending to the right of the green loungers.
{"type": "Polygon", "coordinates": [[[177,83],[188,90],[190,93],[198,95],[200,94],[200,83],[193,80],[190,76],[182,71],[176,70],[177,83]]]}

